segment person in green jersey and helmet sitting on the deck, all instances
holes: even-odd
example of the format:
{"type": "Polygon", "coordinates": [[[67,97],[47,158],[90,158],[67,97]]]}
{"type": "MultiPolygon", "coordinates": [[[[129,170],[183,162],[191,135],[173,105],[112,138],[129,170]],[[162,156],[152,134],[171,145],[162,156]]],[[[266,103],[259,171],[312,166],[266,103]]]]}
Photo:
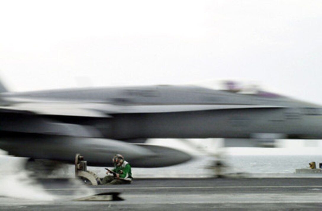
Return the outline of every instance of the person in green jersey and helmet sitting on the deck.
{"type": "Polygon", "coordinates": [[[132,172],[130,164],[124,160],[124,157],[120,154],[114,155],[113,159],[114,168],[108,170],[106,174],[113,174],[105,176],[102,180],[103,185],[120,185],[130,184],[132,182],[132,172]]]}

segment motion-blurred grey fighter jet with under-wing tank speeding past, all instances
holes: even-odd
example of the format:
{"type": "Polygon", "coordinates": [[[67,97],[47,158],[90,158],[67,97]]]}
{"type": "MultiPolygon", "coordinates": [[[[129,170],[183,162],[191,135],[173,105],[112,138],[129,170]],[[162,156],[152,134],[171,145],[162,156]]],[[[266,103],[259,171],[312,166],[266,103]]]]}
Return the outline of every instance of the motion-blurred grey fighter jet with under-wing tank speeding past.
{"type": "Polygon", "coordinates": [[[9,92],[0,84],[0,148],[10,155],[93,166],[115,152],[134,167],[160,167],[190,155],[147,145],[149,138],[322,138],[319,105],[278,94],[195,85],[9,92]],[[148,158],[148,159],[147,159],[148,158]]]}

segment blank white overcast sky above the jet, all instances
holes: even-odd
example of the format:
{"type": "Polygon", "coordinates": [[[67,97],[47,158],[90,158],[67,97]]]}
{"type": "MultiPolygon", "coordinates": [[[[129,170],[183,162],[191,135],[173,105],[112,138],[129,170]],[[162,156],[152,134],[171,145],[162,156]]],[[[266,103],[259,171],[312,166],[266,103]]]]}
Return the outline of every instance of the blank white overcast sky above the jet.
{"type": "Polygon", "coordinates": [[[322,1],[0,0],[11,91],[242,78],[322,104],[322,1]]]}

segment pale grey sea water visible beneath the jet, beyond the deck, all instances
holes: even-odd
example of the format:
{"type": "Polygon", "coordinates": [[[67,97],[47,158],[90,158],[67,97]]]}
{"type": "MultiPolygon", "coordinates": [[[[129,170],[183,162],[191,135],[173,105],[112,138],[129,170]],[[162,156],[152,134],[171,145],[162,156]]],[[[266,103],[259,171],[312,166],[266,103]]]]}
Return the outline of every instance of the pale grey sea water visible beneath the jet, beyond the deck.
{"type": "MultiPolygon", "coordinates": [[[[133,177],[212,177],[214,171],[211,168],[216,158],[211,156],[196,156],[193,160],[171,167],[162,168],[132,168],[133,177]]],[[[322,163],[322,155],[236,155],[226,156],[224,173],[228,175],[241,175],[249,177],[296,177],[295,169],[309,168],[308,163],[315,161],[318,167],[322,163]]],[[[89,167],[104,177],[104,168],[89,167]]],[[[302,175],[303,176],[303,175],[302,175]]],[[[322,174],[304,175],[322,177],[322,174]]]]}

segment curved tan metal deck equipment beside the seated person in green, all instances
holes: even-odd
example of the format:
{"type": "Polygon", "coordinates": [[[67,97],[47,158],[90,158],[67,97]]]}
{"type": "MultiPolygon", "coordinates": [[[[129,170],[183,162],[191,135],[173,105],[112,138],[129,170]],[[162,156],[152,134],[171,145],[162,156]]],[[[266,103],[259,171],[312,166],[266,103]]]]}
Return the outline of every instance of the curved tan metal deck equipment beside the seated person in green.
{"type": "Polygon", "coordinates": [[[84,157],[81,154],[76,154],[75,156],[75,177],[80,178],[88,185],[102,184],[100,178],[94,172],[87,170],[87,161],[84,161],[84,157]]]}

